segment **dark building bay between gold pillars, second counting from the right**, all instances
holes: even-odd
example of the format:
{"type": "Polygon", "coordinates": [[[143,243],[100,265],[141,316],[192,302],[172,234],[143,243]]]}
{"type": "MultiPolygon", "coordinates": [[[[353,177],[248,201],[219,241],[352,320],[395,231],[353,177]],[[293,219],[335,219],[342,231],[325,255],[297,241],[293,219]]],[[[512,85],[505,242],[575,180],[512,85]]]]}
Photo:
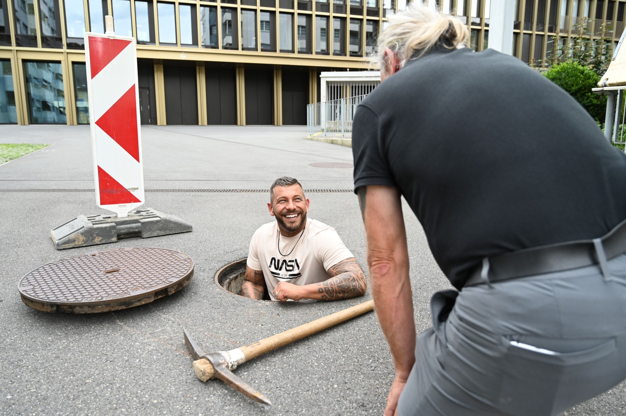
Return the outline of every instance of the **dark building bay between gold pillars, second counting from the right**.
{"type": "Polygon", "coordinates": [[[274,71],[248,69],[245,77],[245,124],[274,124],[274,71]]]}

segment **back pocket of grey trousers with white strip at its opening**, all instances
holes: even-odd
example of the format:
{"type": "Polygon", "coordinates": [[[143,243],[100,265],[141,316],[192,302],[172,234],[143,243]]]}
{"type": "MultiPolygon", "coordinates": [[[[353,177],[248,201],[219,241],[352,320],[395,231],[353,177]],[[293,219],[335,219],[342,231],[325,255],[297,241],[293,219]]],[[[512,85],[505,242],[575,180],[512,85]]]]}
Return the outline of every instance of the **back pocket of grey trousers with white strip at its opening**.
{"type": "Polygon", "coordinates": [[[503,377],[497,407],[506,413],[557,415],[614,385],[602,381],[617,364],[614,338],[576,352],[543,349],[515,339],[515,335],[501,339],[503,377]]]}

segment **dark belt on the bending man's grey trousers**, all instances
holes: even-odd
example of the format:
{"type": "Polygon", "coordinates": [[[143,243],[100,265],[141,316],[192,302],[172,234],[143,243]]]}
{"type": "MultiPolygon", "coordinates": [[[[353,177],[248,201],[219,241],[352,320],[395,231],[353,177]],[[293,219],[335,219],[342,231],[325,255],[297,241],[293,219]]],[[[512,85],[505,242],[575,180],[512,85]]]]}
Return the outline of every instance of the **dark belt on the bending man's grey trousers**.
{"type": "Polygon", "coordinates": [[[530,275],[560,272],[599,264],[605,280],[610,279],[607,260],[626,252],[626,220],[603,237],[541,245],[485,257],[475,267],[465,286],[491,284],[530,275]]]}

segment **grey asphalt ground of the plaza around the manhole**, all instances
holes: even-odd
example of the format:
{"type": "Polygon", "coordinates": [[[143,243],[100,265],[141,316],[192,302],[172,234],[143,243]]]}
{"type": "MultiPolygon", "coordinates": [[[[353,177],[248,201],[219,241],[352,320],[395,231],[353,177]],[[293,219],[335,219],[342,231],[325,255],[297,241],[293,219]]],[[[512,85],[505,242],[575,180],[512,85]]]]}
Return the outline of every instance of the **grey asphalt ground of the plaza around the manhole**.
{"type": "MultiPolygon", "coordinates": [[[[2,143],[53,146],[0,166],[0,415],[382,415],[394,377],[371,312],[240,365],[235,374],[272,406],[219,380],[200,382],[183,327],[207,352],[230,350],[371,299],[265,302],[229,294],[215,272],[247,256],[250,237],[273,220],[267,192],[294,176],[309,192],[309,216],[335,227],[366,269],[364,229],[348,147],[302,139],[305,127],[143,126],[144,207],[190,222],[193,232],[58,251],[50,230],[95,206],[89,126],[1,126],[2,143]],[[173,192],[177,191],[177,192],[173,192]],[[217,192],[222,191],[222,192],[217,192]],[[40,265],[119,247],[190,255],[192,282],[155,302],[74,315],[31,309],[18,280],[40,265]]],[[[430,326],[430,296],[449,284],[413,213],[408,224],[418,331],[430,326]]],[[[626,414],[626,384],[565,415],[626,414]]]]}

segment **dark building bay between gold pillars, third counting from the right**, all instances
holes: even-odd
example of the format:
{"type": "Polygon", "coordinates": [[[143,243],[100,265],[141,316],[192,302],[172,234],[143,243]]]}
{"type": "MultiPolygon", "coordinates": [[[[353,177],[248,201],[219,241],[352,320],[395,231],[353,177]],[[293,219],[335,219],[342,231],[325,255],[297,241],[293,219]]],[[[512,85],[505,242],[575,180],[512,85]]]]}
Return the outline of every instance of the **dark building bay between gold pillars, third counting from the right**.
{"type": "Polygon", "coordinates": [[[237,124],[235,68],[205,67],[207,124],[237,124]]]}

